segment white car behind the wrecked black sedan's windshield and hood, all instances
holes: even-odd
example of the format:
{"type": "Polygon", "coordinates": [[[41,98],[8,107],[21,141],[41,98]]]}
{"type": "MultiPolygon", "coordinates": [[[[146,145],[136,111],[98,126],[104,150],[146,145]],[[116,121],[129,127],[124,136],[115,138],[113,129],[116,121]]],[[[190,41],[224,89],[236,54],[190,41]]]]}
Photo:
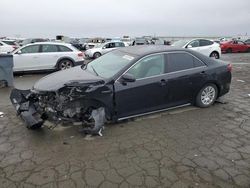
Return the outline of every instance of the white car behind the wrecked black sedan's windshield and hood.
{"type": "Polygon", "coordinates": [[[86,50],[85,56],[88,58],[96,59],[101,55],[120,47],[125,47],[125,44],[121,41],[110,41],[102,44],[97,44],[94,48],[86,50]]]}

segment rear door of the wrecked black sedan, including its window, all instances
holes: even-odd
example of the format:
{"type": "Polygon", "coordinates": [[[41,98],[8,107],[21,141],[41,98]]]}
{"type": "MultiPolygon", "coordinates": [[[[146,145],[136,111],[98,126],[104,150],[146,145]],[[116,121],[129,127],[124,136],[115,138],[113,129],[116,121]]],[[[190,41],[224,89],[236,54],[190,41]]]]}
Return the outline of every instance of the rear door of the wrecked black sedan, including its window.
{"type": "Polygon", "coordinates": [[[206,66],[197,66],[197,59],[187,52],[167,54],[168,106],[192,102],[196,88],[206,80],[206,66]]]}

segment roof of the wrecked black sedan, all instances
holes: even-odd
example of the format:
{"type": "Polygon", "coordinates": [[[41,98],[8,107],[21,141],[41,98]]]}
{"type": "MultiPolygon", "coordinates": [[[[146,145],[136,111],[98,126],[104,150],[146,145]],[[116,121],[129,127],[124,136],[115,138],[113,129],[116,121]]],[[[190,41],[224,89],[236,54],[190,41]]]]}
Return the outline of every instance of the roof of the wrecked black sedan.
{"type": "MultiPolygon", "coordinates": [[[[173,46],[166,46],[166,45],[138,45],[138,46],[128,46],[124,48],[118,49],[121,52],[134,54],[137,56],[145,56],[152,53],[158,52],[173,52],[173,51],[187,51],[191,52],[191,50],[185,48],[176,48],[173,46]]],[[[191,52],[192,53],[192,52],[191,52]]]]}

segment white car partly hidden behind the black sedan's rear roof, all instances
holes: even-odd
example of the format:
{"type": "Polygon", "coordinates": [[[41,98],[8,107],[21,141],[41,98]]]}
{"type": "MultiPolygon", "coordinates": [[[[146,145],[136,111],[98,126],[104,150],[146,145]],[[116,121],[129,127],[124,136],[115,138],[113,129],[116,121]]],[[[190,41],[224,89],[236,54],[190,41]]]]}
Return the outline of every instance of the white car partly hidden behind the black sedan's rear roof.
{"type": "Polygon", "coordinates": [[[189,48],[215,59],[221,57],[220,44],[207,39],[179,40],[174,42],[171,46],[189,48]]]}

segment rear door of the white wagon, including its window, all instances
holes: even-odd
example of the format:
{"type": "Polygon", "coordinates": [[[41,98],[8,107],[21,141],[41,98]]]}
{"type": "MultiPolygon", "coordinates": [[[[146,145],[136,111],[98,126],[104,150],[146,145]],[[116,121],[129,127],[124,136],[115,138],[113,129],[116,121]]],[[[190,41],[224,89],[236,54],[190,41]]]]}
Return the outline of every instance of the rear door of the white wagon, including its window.
{"type": "Polygon", "coordinates": [[[42,44],[40,57],[40,69],[54,69],[60,53],[57,45],[42,44]]]}

